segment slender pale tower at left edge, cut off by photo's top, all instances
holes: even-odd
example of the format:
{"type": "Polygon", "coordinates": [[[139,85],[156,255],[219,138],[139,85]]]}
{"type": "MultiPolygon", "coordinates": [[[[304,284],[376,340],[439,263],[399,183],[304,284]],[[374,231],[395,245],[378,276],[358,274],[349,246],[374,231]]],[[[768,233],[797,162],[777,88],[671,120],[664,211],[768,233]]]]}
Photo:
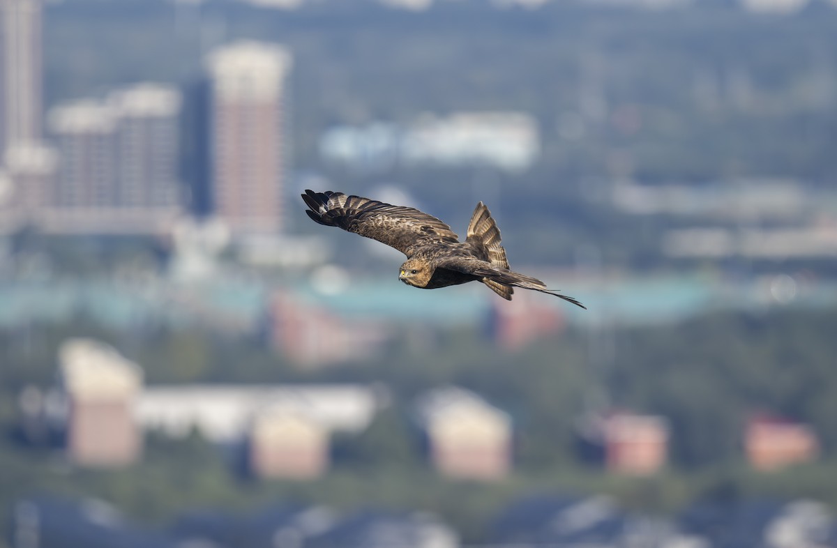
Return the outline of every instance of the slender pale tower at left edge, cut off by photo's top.
{"type": "Polygon", "coordinates": [[[41,2],[0,0],[0,163],[41,141],[41,2]]]}

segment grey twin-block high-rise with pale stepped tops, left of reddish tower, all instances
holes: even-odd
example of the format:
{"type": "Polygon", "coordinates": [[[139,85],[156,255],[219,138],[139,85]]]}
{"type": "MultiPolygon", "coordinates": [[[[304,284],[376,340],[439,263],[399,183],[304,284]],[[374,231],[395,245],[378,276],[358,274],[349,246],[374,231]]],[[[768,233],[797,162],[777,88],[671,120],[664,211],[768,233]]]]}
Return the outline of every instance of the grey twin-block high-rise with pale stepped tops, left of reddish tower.
{"type": "Polygon", "coordinates": [[[182,205],[180,103],[171,86],[138,84],[105,101],[50,110],[60,168],[49,223],[71,231],[146,232],[175,218],[182,205]]]}

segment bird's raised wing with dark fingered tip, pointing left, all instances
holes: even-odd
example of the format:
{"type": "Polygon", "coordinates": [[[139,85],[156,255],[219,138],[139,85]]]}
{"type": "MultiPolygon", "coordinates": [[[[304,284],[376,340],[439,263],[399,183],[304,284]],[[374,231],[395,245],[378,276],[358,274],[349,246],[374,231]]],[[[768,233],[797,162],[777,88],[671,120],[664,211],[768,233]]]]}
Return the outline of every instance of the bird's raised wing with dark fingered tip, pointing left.
{"type": "Polygon", "coordinates": [[[316,223],[339,227],[372,238],[407,255],[430,243],[456,243],[459,237],[438,218],[413,207],[393,206],[342,192],[312,192],[302,195],[308,217],[316,223]]]}

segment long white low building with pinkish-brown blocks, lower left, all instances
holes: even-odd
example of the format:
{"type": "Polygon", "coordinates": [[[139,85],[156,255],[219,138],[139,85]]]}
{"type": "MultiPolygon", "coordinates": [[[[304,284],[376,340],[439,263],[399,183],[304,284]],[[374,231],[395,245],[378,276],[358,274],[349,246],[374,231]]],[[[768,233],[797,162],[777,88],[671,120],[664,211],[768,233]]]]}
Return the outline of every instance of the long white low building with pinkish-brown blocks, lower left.
{"type": "Polygon", "coordinates": [[[213,443],[246,444],[259,475],[312,477],[328,465],[331,433],[362,432],[389,398],[377,384],[146,387],[140,366],[87,339],[65,341],[58,361],[59,388],[23,394],[25,415],[65,429],[69,458],[90,466],[133,462],[144,431],[197,431],[213,443]]]}

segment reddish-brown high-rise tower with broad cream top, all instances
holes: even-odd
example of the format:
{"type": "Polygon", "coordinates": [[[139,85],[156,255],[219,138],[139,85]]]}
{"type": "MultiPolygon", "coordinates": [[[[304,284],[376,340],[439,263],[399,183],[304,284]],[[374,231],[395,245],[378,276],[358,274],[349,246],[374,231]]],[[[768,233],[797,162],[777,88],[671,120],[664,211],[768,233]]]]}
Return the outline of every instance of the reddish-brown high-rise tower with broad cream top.
{"type": "Polygon", "coordinates": [[[290,53],[239,42],[208,57],[212,209],[234,234],[282,226],[285,76],[290,53]]]}

